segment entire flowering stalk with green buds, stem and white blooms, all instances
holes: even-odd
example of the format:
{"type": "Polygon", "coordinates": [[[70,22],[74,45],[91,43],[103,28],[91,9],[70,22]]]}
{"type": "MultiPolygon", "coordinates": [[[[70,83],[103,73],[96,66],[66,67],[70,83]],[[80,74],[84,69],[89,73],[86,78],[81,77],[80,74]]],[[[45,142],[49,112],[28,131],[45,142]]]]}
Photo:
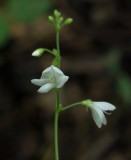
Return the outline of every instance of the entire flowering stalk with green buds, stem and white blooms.
{"type": "Polygon", "coordinates": [[[63,106],[60,103],[60,88],[62,88],[69,79],[69,77],[64,75],[64,73],[60,70],[60,31],[64,26],[71,24],[73,19],[67,18],[64,20],[64,18],[61,16],[61,13],[55,10],[54,15],[49,16],[48,20],[54,25],[56,30],[56,49],[50,50],[47,48],[39,48],[32,53],[32,56],[40,57],[43,55],[44,52],[47,52],[54,56],[54,60],[52,62],[52,65],[42,72],[40,79],[32,79],[31,82],[40,87],[38,89],[39,93],[47,93],[51,90],[55,91],[56,105],[54,113],[54,159],[59,160],[58,122],[60,112],[79,105],[84,106],[85,108],[89,108],[91,110],[92,117],[96,125],[100,128],[102,124],[107,124],[104,113],[107,113],[107,111],[113,111],[115,109],[115,106],[108,102],[94,102],[89,99],[76,102],[67,106],[63,106]]]}

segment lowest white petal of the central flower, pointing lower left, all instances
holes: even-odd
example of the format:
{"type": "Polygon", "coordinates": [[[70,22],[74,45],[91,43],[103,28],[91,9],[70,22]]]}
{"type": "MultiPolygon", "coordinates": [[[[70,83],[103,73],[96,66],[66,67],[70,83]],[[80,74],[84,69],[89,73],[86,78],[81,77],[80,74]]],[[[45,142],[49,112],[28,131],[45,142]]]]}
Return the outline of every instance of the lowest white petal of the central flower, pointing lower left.
{"type": "Polygon", "coordinates": [[[47,93],[53,88],[54,88],[54,84],[53,83],[47,83],[47,84],[43,85],[42,87],[40,87],[38,92],[39,93],[47,93]]]}

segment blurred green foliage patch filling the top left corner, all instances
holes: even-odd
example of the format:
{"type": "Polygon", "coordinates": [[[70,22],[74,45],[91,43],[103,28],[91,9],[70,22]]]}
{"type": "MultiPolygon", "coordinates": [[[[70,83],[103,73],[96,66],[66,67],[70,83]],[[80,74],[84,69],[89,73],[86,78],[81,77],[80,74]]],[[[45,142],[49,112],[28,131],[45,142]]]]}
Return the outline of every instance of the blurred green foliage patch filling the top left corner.
{"type": "Polygon", "coordinates": [[[30,23],[45,15],[52,7],[49,0],[9,0],[1,6],[0,12],[0,47],[10,37],[10,25],[13,22],[30,23]]]}

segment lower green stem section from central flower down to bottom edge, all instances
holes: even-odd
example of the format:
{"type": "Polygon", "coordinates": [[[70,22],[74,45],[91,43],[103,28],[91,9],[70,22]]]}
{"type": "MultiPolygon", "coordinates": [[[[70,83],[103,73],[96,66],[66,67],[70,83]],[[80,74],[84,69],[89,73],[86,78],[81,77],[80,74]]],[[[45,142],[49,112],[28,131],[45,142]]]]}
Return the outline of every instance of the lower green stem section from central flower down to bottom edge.
{"type": "Polygon", "coordinates": [[[55,119],[54,119],[54,147],[55,147],[55,160],[59,160],[59,149],[58,149],[58,119],[59,119],[59,91],[56,91],[56,108],[55,108],[55,119]]]}

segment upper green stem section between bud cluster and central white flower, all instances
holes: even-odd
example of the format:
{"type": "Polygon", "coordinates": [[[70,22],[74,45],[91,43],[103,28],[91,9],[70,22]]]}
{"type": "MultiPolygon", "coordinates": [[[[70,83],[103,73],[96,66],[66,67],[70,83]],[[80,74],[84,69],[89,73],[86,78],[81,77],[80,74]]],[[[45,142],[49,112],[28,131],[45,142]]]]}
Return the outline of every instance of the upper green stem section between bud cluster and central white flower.
{"type": "Polygon", "coordinates": [[[60,31],[56,30],[56,49],[57,49],[57,64],[58,68],[60,68],[60,31]]]}

